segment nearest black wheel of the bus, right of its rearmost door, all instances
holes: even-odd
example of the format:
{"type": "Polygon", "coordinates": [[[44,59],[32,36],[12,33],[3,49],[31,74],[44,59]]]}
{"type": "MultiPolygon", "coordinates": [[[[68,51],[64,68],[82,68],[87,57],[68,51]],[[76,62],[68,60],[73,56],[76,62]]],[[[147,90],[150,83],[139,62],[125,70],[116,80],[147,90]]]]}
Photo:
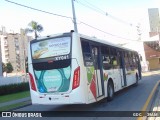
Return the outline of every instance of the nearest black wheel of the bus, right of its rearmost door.
{"type": "Polygon", "coordinates": [[[113,82],[111,80],[108,81],[108,85],[107,85],[107,100],[108,101],[112,101],[114,98],[114,85],[113,82]]]}

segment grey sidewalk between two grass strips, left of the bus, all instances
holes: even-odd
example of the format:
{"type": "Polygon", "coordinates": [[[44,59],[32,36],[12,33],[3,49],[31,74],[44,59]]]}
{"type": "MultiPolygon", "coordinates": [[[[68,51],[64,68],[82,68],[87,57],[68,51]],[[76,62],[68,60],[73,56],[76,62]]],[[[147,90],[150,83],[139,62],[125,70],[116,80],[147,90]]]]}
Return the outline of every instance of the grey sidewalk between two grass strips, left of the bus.
{"type": "Polygon", "coordinates": [[[31,98],[30,98],[30,97],[27,97],[27,98],[22,98],[22,99],[18,99],[18,100],[13,100],[13,101],[1,103],[1,104],[0,104],[0,107],[12,105],[12,104],[17,104],[17,103],[21,103],[21,102],[27,102],[27,101],[31,101],[31,98]]]}

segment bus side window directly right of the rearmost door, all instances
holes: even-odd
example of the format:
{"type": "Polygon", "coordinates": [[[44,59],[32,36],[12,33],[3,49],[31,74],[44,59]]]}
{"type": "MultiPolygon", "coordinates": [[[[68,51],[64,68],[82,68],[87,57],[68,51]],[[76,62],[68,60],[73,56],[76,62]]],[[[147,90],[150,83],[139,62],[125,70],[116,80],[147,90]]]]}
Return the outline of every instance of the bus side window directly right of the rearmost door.
{"type": "Polygon", "coordinates": [[[102,53],[102,61],[103,61],[103,69],[109,70],[112,68],[110,56],[109,56],[109,48],[108,47],[101,47],[102,53]]]}

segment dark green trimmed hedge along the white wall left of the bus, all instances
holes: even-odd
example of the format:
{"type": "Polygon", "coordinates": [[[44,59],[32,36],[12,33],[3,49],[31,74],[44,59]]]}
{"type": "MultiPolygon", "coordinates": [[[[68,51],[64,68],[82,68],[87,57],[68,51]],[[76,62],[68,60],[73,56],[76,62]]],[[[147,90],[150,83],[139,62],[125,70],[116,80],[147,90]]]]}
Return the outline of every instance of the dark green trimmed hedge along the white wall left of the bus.
{"type": "Polygon", "coordinates": [[[18,83],[0,86],[0,96],[29,90],[29,83],[18,83]]]}

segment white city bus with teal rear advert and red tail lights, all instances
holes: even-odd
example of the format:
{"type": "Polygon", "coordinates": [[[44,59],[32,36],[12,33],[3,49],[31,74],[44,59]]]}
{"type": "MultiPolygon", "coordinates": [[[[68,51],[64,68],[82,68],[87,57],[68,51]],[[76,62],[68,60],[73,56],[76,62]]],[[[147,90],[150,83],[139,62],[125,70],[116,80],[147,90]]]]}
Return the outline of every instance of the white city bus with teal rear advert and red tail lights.
{"type": "Polygon", "coordinates": [[[90,104],[141,79],[136,51],[74,31],[37,38],[28,50],[32,104],[90,104]]]}

